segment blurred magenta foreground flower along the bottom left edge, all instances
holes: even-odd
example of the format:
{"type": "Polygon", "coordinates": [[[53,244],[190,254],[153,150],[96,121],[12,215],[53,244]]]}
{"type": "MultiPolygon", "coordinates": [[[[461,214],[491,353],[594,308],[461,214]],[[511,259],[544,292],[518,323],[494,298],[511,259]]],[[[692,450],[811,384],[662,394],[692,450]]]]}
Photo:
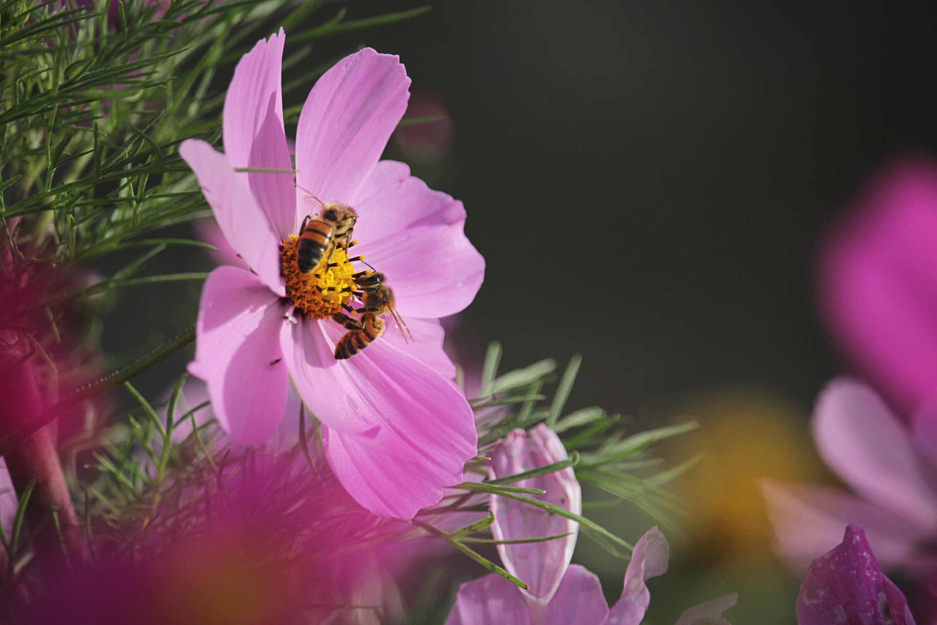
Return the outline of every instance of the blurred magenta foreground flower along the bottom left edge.
{"type": "Polygon", "coordinates": [[[365,511],[327,469],[315,474],[296,455],[232,454],[217,475],[173,493],[129,536],[98,533],[118,542],[97,543],[82,570],[63,561],[47,571],[14,622],[380,622],[376,558],[410,526],[365,511]]]}

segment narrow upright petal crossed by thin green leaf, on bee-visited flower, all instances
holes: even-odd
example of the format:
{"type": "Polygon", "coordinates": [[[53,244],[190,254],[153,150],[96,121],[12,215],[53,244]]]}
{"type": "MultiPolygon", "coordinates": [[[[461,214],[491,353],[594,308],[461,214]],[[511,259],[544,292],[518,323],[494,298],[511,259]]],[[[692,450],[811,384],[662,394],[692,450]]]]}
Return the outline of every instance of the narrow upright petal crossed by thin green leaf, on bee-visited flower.
{"type": "MultiPolygon", "coordinates": [[[[283,130],[280,88],[285,40],[280,28],[269,41],[260,39],[234,68],[222,126],[225,155],[234,167],[292,171],[283,130]]],[[[292,174],[253,171],[240,175],[253,191],[277,238],[282,240],[295,233],[299,224],[292,174]]]]}

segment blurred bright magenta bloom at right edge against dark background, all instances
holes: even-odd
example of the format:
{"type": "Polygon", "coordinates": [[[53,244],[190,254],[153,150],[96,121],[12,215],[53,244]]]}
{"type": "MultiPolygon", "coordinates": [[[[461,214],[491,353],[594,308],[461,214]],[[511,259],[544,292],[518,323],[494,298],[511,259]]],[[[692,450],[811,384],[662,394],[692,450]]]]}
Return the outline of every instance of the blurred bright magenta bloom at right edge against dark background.
{"type": "Polygon", "coordinates": [[[881,171],[826,235],[817,269],[827,332],[855,372],[903,414],[937,400],[937,164],[881,171]]]}

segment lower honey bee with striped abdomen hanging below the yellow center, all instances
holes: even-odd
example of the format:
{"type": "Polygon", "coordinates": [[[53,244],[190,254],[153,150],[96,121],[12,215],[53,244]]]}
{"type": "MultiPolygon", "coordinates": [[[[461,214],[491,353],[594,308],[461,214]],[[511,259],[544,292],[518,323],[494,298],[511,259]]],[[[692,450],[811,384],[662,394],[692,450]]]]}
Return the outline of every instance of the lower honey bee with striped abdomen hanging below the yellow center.
{"type": "Polygon", "coordinates": [[[379,272],[363,273],[355,279],[356,284],[363,291],[362,303],[364,304],[361,308],[355,309],[355,312],[362,313],[362,316],[359,321],[351,319],[344,313],[333,315],[333,319],[348,330],[335,345],[335,360],[350,358],[384,334],[387,325],[379,317],[384,313],[391,313],[405,341],[408,336],[410,340],[413,340],[407,324],[394,309],[394,291],[384,284],[385,279],[386,276],[379,272]]]}

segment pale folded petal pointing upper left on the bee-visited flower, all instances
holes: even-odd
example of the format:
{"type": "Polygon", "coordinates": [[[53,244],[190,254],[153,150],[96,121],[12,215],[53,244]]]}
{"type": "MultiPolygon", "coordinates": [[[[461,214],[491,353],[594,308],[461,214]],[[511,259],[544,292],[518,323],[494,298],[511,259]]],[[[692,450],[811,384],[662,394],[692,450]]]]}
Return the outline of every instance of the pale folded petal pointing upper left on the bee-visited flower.
{"type": "Polygon", "coordinates": [[[228,243],[241,254],[263,284],[277,295],[286,294],[280,276],[280,252],[274,232],[227,156],[197,139],[179,146],[179,156],[195,171],[201,192],[228,243]]]}

